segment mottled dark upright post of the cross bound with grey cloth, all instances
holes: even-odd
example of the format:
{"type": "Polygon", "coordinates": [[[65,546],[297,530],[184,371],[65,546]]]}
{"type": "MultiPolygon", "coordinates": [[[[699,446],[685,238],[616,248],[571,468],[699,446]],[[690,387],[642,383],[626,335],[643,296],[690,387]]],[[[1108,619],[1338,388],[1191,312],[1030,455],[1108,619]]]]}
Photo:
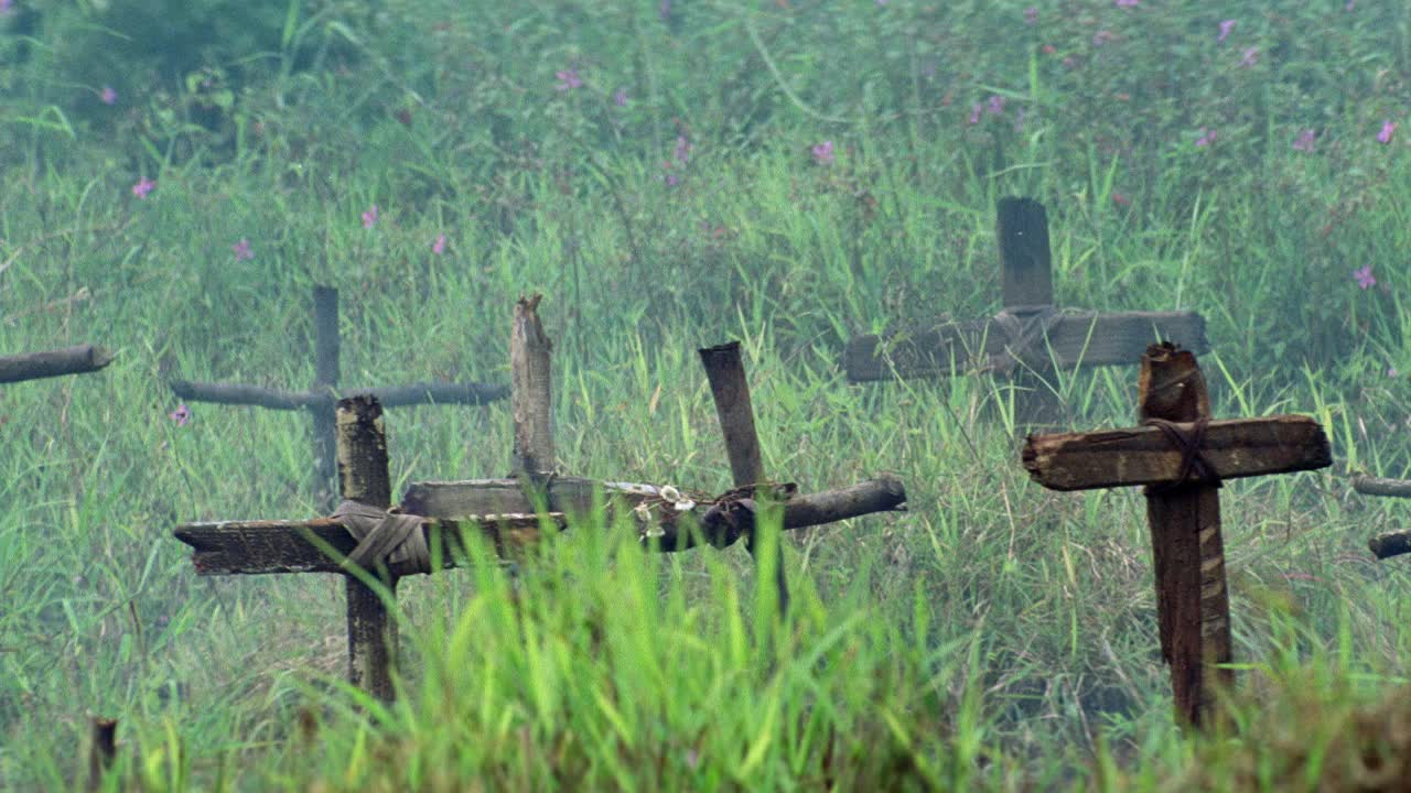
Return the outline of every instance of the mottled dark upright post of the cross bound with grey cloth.
{"type": "MultiPolygon", "coordinates": [[[[374,396],[351,396],[337,404],[337,460],[343,498],[387,509],[392,504],[382,406],[374,396]]],[[[396,594],[396,577],[380,570],[396,594]]],[[[382,701],[392,701],[396,665],[396,624],[378,594],[347,576],[349,680],[382,701]]]]}

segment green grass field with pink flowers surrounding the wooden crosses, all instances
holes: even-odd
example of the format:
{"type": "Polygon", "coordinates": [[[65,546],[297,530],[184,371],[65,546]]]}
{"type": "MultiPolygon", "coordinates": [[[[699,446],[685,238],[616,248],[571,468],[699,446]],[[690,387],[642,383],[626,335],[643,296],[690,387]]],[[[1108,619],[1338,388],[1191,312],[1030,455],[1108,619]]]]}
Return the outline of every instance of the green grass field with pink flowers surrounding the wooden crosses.
{"type": "MultiPolygon", "coordinates": [[[[0,789],[82,786],[90,715],[109,790],[1395,789],[1411,587],[1366,540],[1411,505],[1348,474],[1411,473],[1407,7],[133,6],[0,4],[0,354],[119,351],[0,387],[0,789]],[[1136,488],[1031,484],[1003,380],[841,371],[1000,308],[1006,195],[1061,305],[1198,310],[1216,416],[1332,437],[1222,488],[1216,735],[1171,714],[1136,488]],[[602,525],[408,579],[370,703],[341,581],[198,579],[171,535],[322,509],[306,416],[166,387],[305,387],[315,284],[354,385],[507,382],[542,292],[559,461],[610,480],[729,487],[696,349],[739,339],[766,470],[893,471],[910,511],[789,538],[782,622],[739,547],[602,525]]],[[[1057,385],[1133,422],[1134,367],[1057,385]]],[[[505,474],[509,423],[389,411],[396,494],[505,474]]]]}

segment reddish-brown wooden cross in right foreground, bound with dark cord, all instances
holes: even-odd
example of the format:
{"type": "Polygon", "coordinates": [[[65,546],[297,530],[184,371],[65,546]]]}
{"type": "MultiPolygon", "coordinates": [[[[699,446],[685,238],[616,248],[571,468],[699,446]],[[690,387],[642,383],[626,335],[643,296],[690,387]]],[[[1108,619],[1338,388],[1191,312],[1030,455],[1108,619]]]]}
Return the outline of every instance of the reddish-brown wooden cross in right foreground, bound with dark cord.
{"type": "Polygon", "coordinates": [[[1023,464],[1050,490],[1143,484],[1151,528],[1161,658],[1177,714],[1208,725],[1233,682],[1219,483],[1332,464],[1328,436],[1308,416],[1211,420],[1195,356],[1153,344],[1141,356],[1143,426],[1030,436],[1023,464]]]}

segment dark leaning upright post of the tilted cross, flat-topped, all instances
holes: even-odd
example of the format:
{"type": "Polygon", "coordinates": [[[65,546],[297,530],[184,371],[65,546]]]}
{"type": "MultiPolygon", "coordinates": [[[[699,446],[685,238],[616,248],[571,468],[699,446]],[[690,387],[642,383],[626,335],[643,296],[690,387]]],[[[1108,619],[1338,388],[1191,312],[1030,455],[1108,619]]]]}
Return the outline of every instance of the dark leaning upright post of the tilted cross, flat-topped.
{"type": "MultiPolygon", "coordinates": [[[[700,350],[701,364],[706,367],[706,380],[710,381],[710,392],[715,399],[715,415],[720,416],[720,429],[725,435],[725,453],[729,456],[729,473],[735,480],[735,487],[745,487],[763,481],[765,464],[759,453],[759,435],[755,432],[755,408],[749,399],[749,381],[745,378],[745,363],[741,360],[739,341],[704,347],[700,350]]],[[[773,494],[755,494],[756,502],[773,498],[773,494]]],[[[758,525],[758,523],[756,523],[758,525]]],[[[785,576],[783,549],[779,543],[779,531],[768,532],[769,536],[758,538],[751,533],[745,538],[745,547],[759,563],[761,545],[770,543],[775,559],[775,586],[779,591],[779,611],[789,611],[789,581],[785,576]]]]}

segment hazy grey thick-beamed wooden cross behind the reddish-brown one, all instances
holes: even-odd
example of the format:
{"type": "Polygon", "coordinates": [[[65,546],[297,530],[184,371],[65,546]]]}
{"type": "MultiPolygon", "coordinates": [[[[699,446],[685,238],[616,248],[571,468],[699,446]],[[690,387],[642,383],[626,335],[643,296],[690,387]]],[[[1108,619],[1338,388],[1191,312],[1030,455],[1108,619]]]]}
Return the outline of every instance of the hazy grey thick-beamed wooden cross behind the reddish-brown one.
{"type": "Polygon", "coordinates": [[[859,336],[847,349],[848,380],[1002,374],[1016,385],[1016,423],[1051,426],[1062,416],[1054,370],[1130,364],[1158,340],[1208,349],[1205,319],[1195,312],[1057,309],[1044,205],[1006,198],[996,214],[1005,308],[989,319],[859,336]]]}

